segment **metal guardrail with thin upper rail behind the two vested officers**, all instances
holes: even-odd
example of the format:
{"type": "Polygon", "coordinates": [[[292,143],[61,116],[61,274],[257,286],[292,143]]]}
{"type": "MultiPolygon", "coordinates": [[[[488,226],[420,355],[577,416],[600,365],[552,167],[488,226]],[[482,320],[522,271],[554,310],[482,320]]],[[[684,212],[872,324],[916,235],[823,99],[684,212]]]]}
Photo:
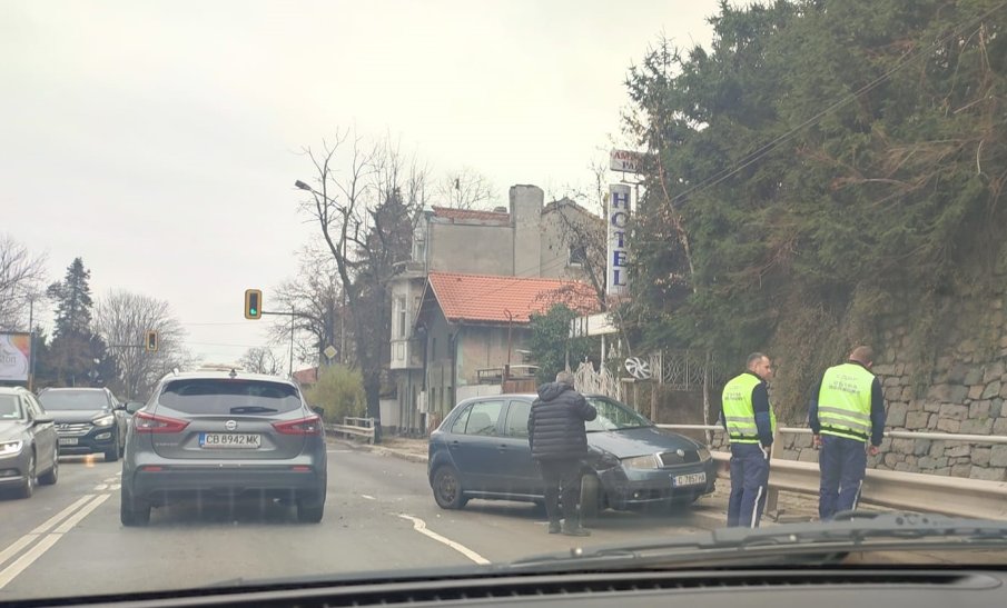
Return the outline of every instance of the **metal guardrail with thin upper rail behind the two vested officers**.
{"type": "MultiPolygon", "coordinates": [[[[670,430],[720,430],[709,425],[658,425],[670,430]]],[[[807,428],[780,428],[779,432],[810,433],[807,428]]],[[[888,431],[895,439],[932,439],[973,443],[1007,443],[1007,437],[988,435],[952,435],[942,432],[888,431]]],[[[712,452],[721,464],[719,477],[730,478],[727,468],[731,455],[712,452]]],[[[769,477],[770,496],[766,510],[777,511],[777,494],[790,491],[818,496],[820,472],[817,462],[772,459],[769,477]]],[[[907,509],[910,511],[1007,519],[1007,482],[965,479],[918,472],[868,469],[863,478],[860,500],[868,505],[907,509]]]]}

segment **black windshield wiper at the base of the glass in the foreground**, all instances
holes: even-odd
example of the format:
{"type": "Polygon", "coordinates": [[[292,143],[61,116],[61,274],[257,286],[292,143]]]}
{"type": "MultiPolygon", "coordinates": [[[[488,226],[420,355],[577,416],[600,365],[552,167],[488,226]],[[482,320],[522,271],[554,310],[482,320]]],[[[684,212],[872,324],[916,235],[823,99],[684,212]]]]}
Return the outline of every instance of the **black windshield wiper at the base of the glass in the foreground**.
{"type": "Polygon", "coordinates": [[[784,524],[767,528],[720,528],[664,540],[574,548],[566,554],[531,557],[509,565],[596,566],[631,561],[681,564],[691,560],[749,561],[794,554],[842,556],[851,551],[1007,549],[1007,521],[909,512],[840,514],[832,521],[784,524]]]}

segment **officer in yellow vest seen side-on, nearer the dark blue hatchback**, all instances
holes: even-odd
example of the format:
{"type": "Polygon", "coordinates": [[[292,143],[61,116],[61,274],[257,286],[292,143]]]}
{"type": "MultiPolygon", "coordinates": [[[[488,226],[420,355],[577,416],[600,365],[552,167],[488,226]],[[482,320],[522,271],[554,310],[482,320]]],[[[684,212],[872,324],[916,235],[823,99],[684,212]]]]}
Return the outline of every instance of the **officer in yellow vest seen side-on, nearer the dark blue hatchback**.
{"type": "Polygon", "coordinates": [[[772,362],[761,352],[748,356],[746,371],[723,387],[723,426],[731,441],[731,496],[728,527],[758,528],[769,489],[769,450],[777,418],[767,381],[772,362]]]}

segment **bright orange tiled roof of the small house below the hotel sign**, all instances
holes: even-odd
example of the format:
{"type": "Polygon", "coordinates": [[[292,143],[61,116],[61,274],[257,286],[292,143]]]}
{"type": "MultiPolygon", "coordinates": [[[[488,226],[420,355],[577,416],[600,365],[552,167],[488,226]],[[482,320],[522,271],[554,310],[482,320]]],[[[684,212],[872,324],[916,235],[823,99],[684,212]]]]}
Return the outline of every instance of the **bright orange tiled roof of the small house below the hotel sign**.
{"type": "Polygon", "coordinates": [[[565,303],[582,313],[599,310],[598,296],[586,283],[535,277],[498,277],[431,272],[430,287],[448,321],[529,322],[532,312],[565,303]]]}

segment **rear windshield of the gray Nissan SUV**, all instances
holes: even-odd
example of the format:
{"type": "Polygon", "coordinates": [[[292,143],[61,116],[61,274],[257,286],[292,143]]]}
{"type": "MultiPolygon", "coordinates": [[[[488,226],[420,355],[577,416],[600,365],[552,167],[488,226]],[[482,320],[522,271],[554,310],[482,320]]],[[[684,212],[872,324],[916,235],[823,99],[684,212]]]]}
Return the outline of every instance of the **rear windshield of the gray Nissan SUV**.
{"type": "Polygon", "coordinates": [[[187,379],[168,382],[158,402],[186,413],[277,413],[298,409],[300,396],[282,382],[187,379]]]}

